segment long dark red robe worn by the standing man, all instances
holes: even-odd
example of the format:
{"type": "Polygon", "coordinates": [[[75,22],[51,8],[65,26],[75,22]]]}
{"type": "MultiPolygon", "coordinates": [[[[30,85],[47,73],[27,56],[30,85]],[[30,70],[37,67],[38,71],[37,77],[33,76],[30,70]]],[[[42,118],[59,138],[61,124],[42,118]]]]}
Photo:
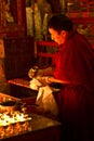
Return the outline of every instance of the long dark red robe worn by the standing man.
{"type": "Polygon", "coordinates": [[[94,138],[93,48],[82,35],[73,30],[59,47],[55,63],[55,78],[79,84],[65,86],[58,93],[59,115],[67,137],[72,141],[92,141],[94,138]]]}

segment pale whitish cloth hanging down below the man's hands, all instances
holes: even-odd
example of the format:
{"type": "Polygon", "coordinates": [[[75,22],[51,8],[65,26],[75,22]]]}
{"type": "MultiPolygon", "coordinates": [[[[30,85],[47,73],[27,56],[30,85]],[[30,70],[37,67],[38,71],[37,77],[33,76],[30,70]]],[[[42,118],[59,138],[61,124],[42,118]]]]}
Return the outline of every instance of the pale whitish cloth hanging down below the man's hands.
{"type": "Polygon", "coordinates": [[[38,104],[44,113],[50,113],[55,116],[58,115],[57,104],[53,95],[53,90],[50,86],[39,88],[36,104],[38,104]]]}

